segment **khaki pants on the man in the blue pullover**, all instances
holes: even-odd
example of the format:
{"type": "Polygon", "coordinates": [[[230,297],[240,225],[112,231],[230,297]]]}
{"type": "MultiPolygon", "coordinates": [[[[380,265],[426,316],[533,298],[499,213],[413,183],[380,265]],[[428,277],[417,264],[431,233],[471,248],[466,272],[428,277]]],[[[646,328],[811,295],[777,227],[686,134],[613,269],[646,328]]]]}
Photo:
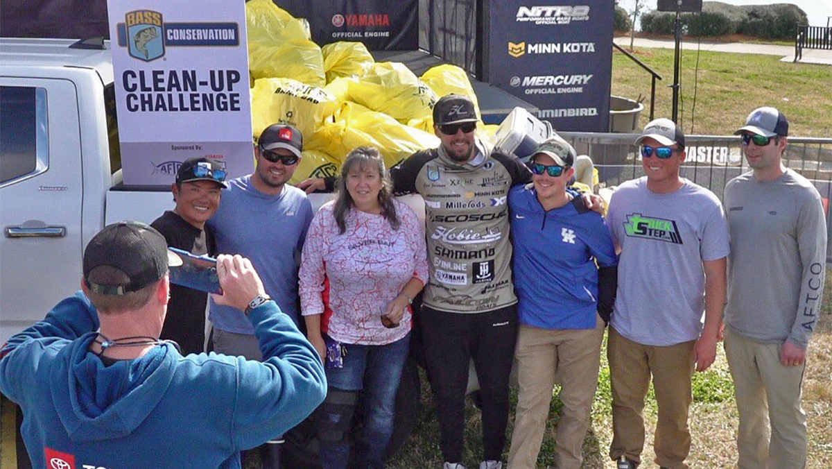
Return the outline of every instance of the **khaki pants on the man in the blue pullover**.
{"type": "Polygon", "coordinates": [[[552,387],[562,385],[562,416],[555,438],[557,467],[581,467],[581,447],[587,436],[592,397],[598,385],[604,322],[597,317],[595,329],[540,329],[521,326],[518,332],[517,417],[510,469],[534,469],[546,430],[552,387]]]}

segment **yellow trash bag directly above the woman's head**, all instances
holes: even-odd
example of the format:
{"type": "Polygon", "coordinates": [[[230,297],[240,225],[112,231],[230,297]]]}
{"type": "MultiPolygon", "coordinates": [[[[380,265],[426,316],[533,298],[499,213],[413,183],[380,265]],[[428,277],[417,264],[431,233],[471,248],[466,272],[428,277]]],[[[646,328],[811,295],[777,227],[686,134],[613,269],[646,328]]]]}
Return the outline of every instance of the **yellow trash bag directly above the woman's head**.
{"type": "Polygon", "coordinates": [[[419,150],[439,146],[434,135],[408,127],[381,112],[354,102],[342,102],[308,142],[308,147],[341,160],[355,147],[379,148],[387,167],[419,150]]]}

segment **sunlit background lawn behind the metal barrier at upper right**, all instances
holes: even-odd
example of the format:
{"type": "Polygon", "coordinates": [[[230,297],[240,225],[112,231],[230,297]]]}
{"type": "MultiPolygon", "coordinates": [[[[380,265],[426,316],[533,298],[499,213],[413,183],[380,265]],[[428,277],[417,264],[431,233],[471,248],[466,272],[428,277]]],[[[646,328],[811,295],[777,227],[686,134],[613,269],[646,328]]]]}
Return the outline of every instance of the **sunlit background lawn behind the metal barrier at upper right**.
{"type": "MultiPolygon", "coordinates": [[[[790,135],[832,137],[832,67],[702,51],[695,90],[696,53],[681,55],[679,115],[686,133],[730,135],[755,107],[774,106],[789,117],[790,135]]],[[[635,55],[662,77],[656,82],[655,117],[671,117],[673,50],[636,47],[635,55]]],[[[612,94],[645,98],[641,127],[650,119],[650,85],[649,73],[621,52],[612,53],[612,94]]]]}

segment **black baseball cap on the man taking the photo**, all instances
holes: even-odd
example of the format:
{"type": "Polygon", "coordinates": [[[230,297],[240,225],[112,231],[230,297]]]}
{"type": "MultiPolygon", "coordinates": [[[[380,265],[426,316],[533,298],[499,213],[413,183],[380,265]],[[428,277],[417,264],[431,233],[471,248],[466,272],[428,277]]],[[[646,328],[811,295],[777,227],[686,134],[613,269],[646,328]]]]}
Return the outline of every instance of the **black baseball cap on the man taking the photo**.
{"type": "Polygon", "coordinates": [[[99,295],[124,295],[136,292],[165,277],[168,266],[181,265],[182,260],[167,250],[165,237],[142,222],[117,222],[107,225],[84,250],[84,282],[99,295]],[[129,282],[105,285],[90,281],[97,267],[113,267],[129,278],[129,282]]]}

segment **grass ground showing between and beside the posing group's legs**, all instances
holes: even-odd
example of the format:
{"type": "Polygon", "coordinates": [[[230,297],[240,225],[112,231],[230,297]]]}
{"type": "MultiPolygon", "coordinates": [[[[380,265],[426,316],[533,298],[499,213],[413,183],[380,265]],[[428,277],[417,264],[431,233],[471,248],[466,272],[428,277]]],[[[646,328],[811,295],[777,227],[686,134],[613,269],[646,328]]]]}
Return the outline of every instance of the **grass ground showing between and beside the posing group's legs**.
{"type": "MultiPolygon", "coordinates": [[[[826,297],[832,293],[832,269],[827,270],[826,297]]],[[[693,382],[694,403],[691,406],[691,455],[687,462],[691,467],[731,468],[736,461],[737,412],[734,387],[728,372],[725,352],[718,347],[716,363],[706,372],[696,373],[693,382]]],[[[554,394],[557,396],[557,389],[554,394]]],[[[512,411],[509,417],[506,451],[503,462],[508,458],[508,442],[514,421],[514,405],[517,402],[513,390],[512,411]]],[[[612,395],[610,391],[609,367],[606,357],[606,338],[602,348],[601,372],[598,391],[592,406],[592,425],[584,441],[584,468],[612,469],[613,463],[607,457],[612,440],[612,395]]],[[[542,451],[537,458],[537,467],[554,467],[554,439],[552,430],[557,427],[560,410],[557,397],[547,422],[547,433],[543,439],[542,451]]],[[[805,372],[803,407],[808,416],[809,458],[807,469],[829,469],[832,467],[832,302],[825,301],[819,326],[812,339],[805,372]]],[[[647,437],[642,454],[641,467],[657,467],[652,452],[653,435],[656,429],[656,401],[652,391],[645,408],[647,437]]],[[[482,451],[482,426],[480,412],[468,400],[466,406],[467,426],[465,431],[464,463],[476,469],[482,451]]],[[[439,427],[436,406],[430,388],[423,379],[422,408],[417,428],[405,449],[390,462],[390,469],[440,468],[442,455],[439,452],[439,427]]]]}

